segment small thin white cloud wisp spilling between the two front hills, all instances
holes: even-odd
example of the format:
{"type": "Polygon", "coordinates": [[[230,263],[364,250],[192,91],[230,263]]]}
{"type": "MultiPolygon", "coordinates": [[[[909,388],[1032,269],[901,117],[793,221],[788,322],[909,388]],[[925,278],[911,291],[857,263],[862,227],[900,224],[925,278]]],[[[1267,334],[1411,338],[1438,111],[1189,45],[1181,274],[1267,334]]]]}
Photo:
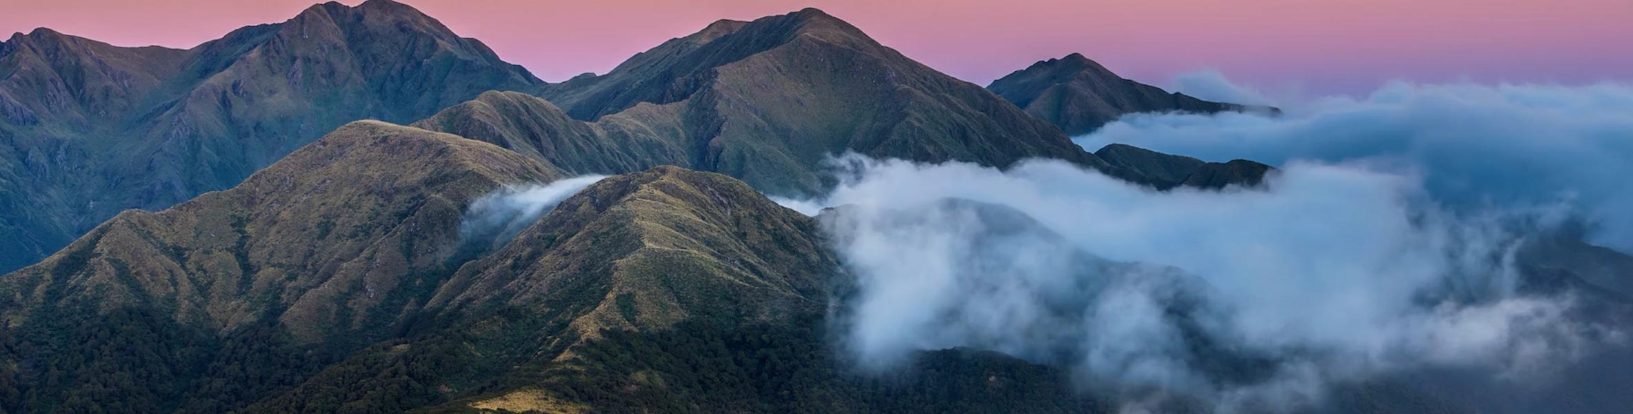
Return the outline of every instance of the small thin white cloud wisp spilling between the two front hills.
{"type": "Polygon", "coordinates": [[[562,200],[601,182],[601,178],[606,175],[581,175],[544,185],[500,187],[470,201],[470,208],[465,209],[465,216],[459,223],[459,236],[467,244],[501,245],[539,216],[550,213],[562,200]]]}

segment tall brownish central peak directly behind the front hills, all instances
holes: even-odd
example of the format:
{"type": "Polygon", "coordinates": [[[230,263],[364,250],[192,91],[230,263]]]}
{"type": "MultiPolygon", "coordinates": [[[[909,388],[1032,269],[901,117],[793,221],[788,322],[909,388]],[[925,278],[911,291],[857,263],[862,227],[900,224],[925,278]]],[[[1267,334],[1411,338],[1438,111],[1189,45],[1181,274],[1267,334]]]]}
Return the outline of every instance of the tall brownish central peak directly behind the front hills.
{"type": "MultiPolygon", "coordinates": [[[[1006,167],[1027,157],[1106,167],[1060,131],[990,92],[807,8],[717,21],[599,77],[547,85],[562,113],[648,134],[650,155],[738,177],[771,193],[815,193],[820,164],[846,151],[1006,167]]],[[[480,136],[467,129],[449,131],[480,136]]]]}

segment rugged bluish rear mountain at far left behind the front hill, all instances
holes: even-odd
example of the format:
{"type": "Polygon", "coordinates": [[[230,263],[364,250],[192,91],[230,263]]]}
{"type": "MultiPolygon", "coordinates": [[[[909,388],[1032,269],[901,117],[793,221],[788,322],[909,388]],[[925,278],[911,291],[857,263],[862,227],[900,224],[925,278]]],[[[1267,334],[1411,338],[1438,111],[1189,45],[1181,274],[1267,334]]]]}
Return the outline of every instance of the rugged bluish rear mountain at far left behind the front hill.
{"type": "Polygon", "coordinates": [[[0,43],[0,270],[127,208],[232,187],[354,119],[541,83],[390,0],[314,5],[180,51],[36,29],[0,43]]]}

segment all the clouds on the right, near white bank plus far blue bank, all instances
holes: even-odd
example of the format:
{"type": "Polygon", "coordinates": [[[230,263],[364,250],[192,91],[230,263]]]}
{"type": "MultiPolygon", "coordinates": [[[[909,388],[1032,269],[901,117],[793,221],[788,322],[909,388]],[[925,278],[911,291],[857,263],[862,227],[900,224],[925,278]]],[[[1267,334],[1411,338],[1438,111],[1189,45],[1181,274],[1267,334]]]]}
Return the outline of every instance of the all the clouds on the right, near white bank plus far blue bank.
{"type": "Polygon", "coordinates": [[[1277,165],[1262,188],[848,155],[831,193],[779,203],[820,214],[854,275],[833,319],[864,370],[993,349],[1228,412],[1424,367],[1524,381],[1625,340],[1576,321],[1571,295],[1517,290],[1515,257],[1564,227],[1633,247],[1633,88],[1390,83],[1282,106],[1076,137],[1277,165]]]}

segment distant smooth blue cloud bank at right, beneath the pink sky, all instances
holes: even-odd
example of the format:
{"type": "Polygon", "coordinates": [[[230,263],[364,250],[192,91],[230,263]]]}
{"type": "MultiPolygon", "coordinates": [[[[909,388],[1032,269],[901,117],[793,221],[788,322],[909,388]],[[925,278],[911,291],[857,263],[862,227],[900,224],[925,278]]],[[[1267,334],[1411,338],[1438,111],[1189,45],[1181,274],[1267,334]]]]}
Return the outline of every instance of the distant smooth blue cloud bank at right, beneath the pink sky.
{"type": "MultiPolygon", "coordinates": [[[[1235,88],[1221,77],[1192,79],[1235,88]]],[[[1221,92],[1223,93],[1223,92],[1221,92]]],[[[1568,203],[1592,242],[1633,252],[1633,85],[1417,85],[1284,106],[1284,116],[1130,115],[1076,137],[1207,160],[1364,162],[1424,177],[1448,208],[1568,203]]]]}

